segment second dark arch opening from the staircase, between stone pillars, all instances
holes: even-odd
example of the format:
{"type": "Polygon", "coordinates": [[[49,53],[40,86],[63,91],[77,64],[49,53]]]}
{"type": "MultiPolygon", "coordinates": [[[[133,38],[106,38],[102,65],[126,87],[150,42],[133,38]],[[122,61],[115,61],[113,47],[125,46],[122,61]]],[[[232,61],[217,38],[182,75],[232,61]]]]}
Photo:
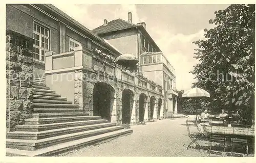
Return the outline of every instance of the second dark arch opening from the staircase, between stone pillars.
{"type": "Polygon", "coordinates": [[[132,111],[134,106],[134,93],[129,89],[122,92],[122,123],[131,124],[132,111]]]}

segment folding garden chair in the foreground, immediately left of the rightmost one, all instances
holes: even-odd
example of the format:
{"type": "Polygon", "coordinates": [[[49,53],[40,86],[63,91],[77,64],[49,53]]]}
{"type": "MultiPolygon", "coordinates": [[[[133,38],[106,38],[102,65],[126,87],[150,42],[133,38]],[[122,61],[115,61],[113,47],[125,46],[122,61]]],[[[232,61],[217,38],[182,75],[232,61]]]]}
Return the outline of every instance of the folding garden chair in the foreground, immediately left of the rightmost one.
{"type": "Polygon", "coordinates": [[[226,127],[227,127],[228,124],[209,123],[209,125],[211,126],[211,131],[209,133],[209,143],[208,143],[209,156],[210,156],[212,142],[217,142],[217,143],[222,144],[222,146],[223,146],[223,155],[225,156],[225,142],[227,140],[225,132],[226,132],[226,127]],[[224,133],[214,133],[214,132],[212,132],[212,126],[222,126],[222,127],[224,127],[224,133]]]}

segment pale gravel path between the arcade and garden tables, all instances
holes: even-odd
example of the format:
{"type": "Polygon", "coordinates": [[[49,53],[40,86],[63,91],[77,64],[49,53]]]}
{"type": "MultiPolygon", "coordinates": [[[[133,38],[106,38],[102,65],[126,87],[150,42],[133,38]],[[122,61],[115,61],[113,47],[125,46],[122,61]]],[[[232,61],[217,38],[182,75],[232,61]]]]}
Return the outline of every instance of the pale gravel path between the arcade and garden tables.
{"type": "MultiPolygon", "coordinates": [[[[58,156],[207,156],[206,150],[186,149],[190,139],[185,120],[164,119],[132,125],[134,132],[131,135],[58,156]]],[[[190,128],[196,131],[196,127],[190,128]]]]}

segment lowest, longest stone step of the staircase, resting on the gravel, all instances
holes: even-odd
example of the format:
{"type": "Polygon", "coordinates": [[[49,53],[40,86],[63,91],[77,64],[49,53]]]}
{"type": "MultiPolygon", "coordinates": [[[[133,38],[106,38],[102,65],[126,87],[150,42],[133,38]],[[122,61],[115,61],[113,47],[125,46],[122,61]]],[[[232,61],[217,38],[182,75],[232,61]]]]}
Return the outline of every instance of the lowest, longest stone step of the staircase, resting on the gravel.
{"type": "Polygon", "coordinates": [[[36,151],[6,148],[6,156],[53,156],[58,153],[92,145],[104,140],[119,137],[121,135],[131,134],[132,132],[133,129],[121,129],[113,132],[99,134],[94,137],[82,138],[71,142],[61,143],[51,147],[38,149],[36,151]]]}

